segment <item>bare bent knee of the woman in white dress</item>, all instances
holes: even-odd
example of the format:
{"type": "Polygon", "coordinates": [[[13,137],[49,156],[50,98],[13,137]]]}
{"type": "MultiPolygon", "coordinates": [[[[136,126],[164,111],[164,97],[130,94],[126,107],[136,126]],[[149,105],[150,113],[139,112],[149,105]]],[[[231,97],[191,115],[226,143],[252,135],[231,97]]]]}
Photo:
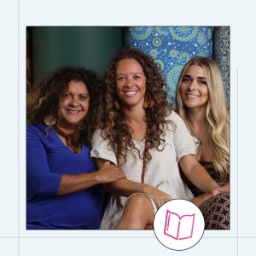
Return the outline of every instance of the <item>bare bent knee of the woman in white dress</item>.
{"type": "Polygon", "coordinates": [[[147,195],[136,194],[126,202],[116,230],[146,230],[153,228],[154,210],[147,195]]]}

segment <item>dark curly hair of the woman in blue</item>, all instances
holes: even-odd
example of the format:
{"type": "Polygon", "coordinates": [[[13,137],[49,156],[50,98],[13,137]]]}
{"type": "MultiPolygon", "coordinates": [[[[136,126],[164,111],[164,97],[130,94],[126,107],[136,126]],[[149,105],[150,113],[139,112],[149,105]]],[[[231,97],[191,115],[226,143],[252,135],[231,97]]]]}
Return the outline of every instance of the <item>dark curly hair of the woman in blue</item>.
{"type": "Polygon", "coordinates": [[[75,143],[90,145],[92,132],[98,121],[97,102],[101,96],[102,82],[96,73],[82,67],[61,67],[50,73],[34,86],[27,95],[26,121],[29,125],[44,123],[47,117],[58,119],[59,101],[61,93],[67,90],[71,81],[84,82],[90,95],[90,107],[82,124],[77,126],[75,143]]]}

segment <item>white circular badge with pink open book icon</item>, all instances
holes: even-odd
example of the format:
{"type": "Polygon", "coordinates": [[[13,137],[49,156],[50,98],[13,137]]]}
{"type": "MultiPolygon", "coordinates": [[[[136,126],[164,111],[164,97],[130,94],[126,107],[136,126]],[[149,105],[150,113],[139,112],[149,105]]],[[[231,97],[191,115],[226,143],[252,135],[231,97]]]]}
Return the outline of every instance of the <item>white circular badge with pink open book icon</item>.
{"type": "Polygon", "coordinates": [[[194,203],[174,199],[154,216],[154,234],[165,247],[182,251],[195,246],[205,230],[205,220],[194,203]]]}

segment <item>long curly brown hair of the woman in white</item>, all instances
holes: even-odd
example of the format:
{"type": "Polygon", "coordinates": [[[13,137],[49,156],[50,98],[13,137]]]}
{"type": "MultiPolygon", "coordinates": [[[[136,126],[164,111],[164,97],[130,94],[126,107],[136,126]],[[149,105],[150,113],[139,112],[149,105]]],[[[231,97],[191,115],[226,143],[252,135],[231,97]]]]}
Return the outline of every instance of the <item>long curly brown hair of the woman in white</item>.
{"type": "MultiPolygon", "coordinates": [[[[150,148],[160,148],[160,143],[165,140],[161,137],[165,133],[167,124],[170,121],[166,120],[166,116],[171,113],[171,108],[168,107],[166,100],[166,83],[161,77],[160,69],[157,67],[153,59],[143,53],[140,49],[119,49],[113,58],[109,61],[105,76],[105,90],[103,116],[102,116],[102,137],[108,139],[108,146],[113,149],[113,152],[124,162],[127,161],[126,154],[130,151],[132,155],[133,149],[138,149],[132,142],[131,127],[126,124],[124,113],[116,108],[115,102],[118,101],[116,94],[116,70],[119,61],[123,59],[134,59],[143,67],[143,73],[146,76],[146,95],[147,102],[154,101],[154,107],[145,108],[148,143],[145,145],[144,156],[146,161],[151,160],[149,153],[150,148]]],[[[142,158],[142,156],[140,155],[142,158]]]]}

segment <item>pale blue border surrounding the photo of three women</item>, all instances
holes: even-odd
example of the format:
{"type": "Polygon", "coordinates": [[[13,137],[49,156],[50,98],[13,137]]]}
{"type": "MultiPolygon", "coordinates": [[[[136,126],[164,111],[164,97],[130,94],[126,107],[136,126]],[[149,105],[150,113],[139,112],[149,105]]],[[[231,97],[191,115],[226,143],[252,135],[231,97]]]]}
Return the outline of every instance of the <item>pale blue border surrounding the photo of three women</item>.
{"type": "Polygon", "coordinates": [[[256,172],[253,1],[60,1],[0,3],[0,254],[255,255],[256,172]],[[19,3],[19,4],[18,4],[19,3]],[[100,8],[101,6],[101,8],[100,8]],[[173,252],[147,231],[25,230],[26,26],[230,26],[231,230],[209,231],[193,248],[173,252]],[[19,37],[18,37],[19,35],[19,37]],[[249,118],[251,116],[251,118],[249,118]],[[238,124],[239,121],[239,124],[238,124]],[[238,124],[238,125],[237,125],[238,124]],[[238,132],[238,137],[237,137],[238,132]],[[237,157],[238,155],[238,157],[237,157]],[[237,173],[238,170],[238,173],[237,173]],[[94,238],[90,238],[94,237],[94,238]]]}

